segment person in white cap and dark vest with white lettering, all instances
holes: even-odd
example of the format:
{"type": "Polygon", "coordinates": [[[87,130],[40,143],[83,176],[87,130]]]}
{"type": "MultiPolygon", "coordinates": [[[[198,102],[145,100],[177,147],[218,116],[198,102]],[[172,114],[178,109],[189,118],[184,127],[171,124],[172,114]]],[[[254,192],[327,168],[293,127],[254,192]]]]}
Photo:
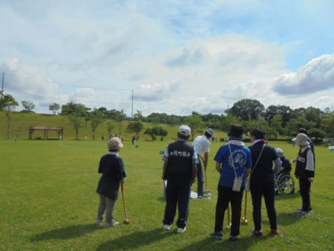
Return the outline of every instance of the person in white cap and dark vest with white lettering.
{"type": "Polygon", "coordinates": [[[163,157],[162,179],[167,180],[163,224],[165,230],[170,230],[174,222],[176,207],[178,207],[177,233],[186,230],[191,185],[196,181],[198,155],[194,147],[186,143],[190,135],[189,126],[180,126],[177,131],[177,142],[167,146],[163,157]]]}

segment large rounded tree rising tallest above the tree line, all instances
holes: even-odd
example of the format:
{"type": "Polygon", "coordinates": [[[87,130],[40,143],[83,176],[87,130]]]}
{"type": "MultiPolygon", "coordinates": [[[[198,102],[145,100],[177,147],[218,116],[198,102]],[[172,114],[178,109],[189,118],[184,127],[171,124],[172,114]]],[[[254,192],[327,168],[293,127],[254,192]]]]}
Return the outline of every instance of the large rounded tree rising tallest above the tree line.
{"type": "Polygon", "coordinates": [[[246,98],[235,102],[227,112],[229,115],[240,117],[244,121],[257,120],[264,114],[264,105],[257,100],[246,98]]]}

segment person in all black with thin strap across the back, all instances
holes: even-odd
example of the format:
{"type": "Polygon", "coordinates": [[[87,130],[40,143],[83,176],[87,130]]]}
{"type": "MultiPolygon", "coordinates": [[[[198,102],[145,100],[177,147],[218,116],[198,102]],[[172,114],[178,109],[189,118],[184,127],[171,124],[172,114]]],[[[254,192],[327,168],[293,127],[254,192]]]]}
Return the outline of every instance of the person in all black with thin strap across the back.
{"type": "Polygon", "coordinates": [[[267,144],[264,139],[265,132],[261,128],[250,131],[249,146],[252,154],[252,172],[250,174],[250,194],[253,202],[254,229],[255,236],[262,236],[261,229],[261,204],[262,196],[267,208],[267,215],[271,228],[271,236],[278,235],[277,215],[275,208],[275,174],[278,173],[282,162],[276,150],[267,144]],[[273,162],[275,168],[273,169],[273,162]]]}

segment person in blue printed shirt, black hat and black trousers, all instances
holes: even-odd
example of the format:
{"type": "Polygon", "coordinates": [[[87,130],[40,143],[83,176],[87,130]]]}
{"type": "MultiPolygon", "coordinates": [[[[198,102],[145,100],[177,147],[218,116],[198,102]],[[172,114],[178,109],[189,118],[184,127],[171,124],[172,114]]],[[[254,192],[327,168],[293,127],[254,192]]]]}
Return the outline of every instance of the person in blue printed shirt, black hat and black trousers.
{"type": "Polygon", "coordinates": [[[241,220],[241,202],[244,194],[245,178],[250,173],[252,158],[250,150],[245,146],[243,139],[244,128],[239,124],[233,124],[228,132],[228,143],[221,146],[214,157],[216,170],[220,175],[218,182],[218,198],[216,204],[216,219],[214,231],[210,234],[213,238],[223,238],[223,220],[228,204],[232,208],[232,227],[230,241],[237,241],[241,220]],[[242,179],[241,190],[232,190],[234,177],[242,179]]]}

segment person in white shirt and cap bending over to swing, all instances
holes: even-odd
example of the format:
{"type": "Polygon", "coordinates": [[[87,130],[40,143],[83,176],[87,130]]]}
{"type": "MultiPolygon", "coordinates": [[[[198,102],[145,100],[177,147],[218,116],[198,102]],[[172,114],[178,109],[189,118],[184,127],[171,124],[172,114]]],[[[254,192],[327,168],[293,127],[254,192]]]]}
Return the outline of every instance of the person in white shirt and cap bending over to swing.
{"type": "MultiPolygon", "coordinates": [[[[207,160],[209,159],[210,152],[210,139],[214,136],[214,130],[207,128],[204,135],[197,136],[193,141],[193,146],[196,149],[198,158],[203,161],[204,170],[207,170],[207,160]],[[204,155],[202,155],[204,153],[204,155]]],[[[202,163],[198,162],[197,167],[197,196],[198,199],[207,198],[207,195],[204,195],[203,190],[204,178],[203,178],[203,169],[202,163]]]]}

